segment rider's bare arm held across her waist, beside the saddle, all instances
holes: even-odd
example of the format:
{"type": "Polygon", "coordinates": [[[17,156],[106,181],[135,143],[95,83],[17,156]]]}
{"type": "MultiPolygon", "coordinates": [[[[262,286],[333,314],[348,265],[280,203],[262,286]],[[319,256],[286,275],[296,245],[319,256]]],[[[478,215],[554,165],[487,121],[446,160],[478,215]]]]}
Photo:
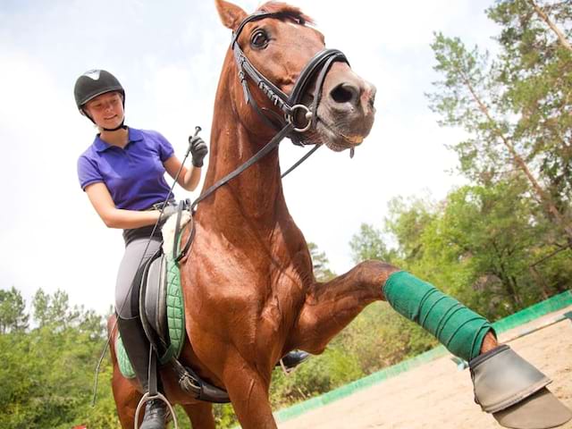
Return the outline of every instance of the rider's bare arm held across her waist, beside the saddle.
{"type": "Polygon", "coordinates": [[[158,210],[139,212],[115,208],[109,189],[103,182],[92,183],[86,188],[89,201],[108,228],[132,229],[153,225],[159,218],[158,210]]]}

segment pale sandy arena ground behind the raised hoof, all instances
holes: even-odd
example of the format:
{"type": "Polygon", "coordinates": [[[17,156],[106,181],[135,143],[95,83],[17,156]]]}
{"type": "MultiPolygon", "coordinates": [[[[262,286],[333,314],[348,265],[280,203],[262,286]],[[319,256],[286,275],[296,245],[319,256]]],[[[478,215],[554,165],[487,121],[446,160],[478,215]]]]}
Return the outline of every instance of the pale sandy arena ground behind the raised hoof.
{"type": "MultiPolygon", "coordinates": [[[[501,341],[571,311],[572,306],[501,334],[501,341]]],[[[547,374],[549,389],[572,408],[572,324],[565,320],[509,345],[547,374]]],[[[473,402],[468,370],[442,357],[371,388],[309,411],[281,429],[489,429],[501,428],[473,402]]],[[[559,426],[572,429],[572,421],[559,426]]]]}

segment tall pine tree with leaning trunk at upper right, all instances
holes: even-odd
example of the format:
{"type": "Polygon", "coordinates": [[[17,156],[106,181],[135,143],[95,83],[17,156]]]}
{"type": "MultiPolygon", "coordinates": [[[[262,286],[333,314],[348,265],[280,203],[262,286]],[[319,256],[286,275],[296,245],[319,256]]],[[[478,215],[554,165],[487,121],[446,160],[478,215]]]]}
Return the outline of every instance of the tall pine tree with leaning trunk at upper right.
{"type": "MultiPolygon", "coordinates": [[[[562,5],[565,14],[571,8],[569,2],[562,5]]],[[[570,145],[561,137],[572,132],[570,53],[558,42],[555,48],[534,43],[545,40],[550,29],[536,25],[531,17],[538,19],[538,15],[528,1],[501,2],[489,14],[507,27],[501,33],[500,61],[489,65],[488,55],[477,48],[469,51],[458,38],[437,34],[432,45],[438,62],[435,70],[444,79],[435,82],[438,91],[428,97],[433,110],[442,114],[442,124],[461,125],[474,136],[454,146],[461,170],[487,183],[511,174],[513,169],[505,165],[517,169],[529,181],[545,214],[572,243],[569,194],[558,201],[559,191],[554,189],[568,186],[570,145]],[[515,21],[530,25],[517,29],[512,25],[515,21]],[[539,132],[542,123],[555,118],[561,119],[551,128],[552,137],[560,137],[557,145],[539,132]]]]}

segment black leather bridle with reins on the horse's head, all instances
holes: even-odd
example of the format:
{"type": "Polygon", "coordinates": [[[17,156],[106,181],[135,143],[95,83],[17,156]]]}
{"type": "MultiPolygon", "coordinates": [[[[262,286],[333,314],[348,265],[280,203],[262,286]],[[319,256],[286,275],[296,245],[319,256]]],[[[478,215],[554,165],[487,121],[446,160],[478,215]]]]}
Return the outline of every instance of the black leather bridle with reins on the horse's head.
{"type": "MultiPolygon", "coordinates": [[[[247,162],[240,165],[239,168],[233,172],[230,172],[219,181],[216,181],[210,188],[206,189],[200,195],[200,197],[195,199],[195,201],[193,201],[190,206],[191,212],[194,212],[198,203],[211,195],[214,190],[220,188],[228,181],[231,181],[241,172],[244,172],[249,166],[255,164],[258,160],[272,152],[272,150],[277,147],[285,137],[290,137],[294,144],[303,146],[303,143],[299,139],[300,134],[303,134],[304,132],[307,132],[307,130],[310,130],[312,127],[315,127],[315,123],[317,122],[317,108],[320,103],[320,98],[322,97],[322,87],[324,86],[326,74],[330,70],[332,63],[341,61],[349,64],[346,55],[344,55],[341,51],[337,49],[323,49],[314,55],[314,57],[306,64],[304,69],[302,69],[298,80],[296,80],[296,83],[294,84],[294,88],[292,89],[290,96],[284,94],[280,88],[276,87],[272,81],[268,80],[264,74],[262,74],[260,71],[257,71],[257,68],[252,65],[252,63],[250,63],[248,57],[244,54],[244,52],[242,52],[242,49],[240,49],[238,39],[240,37],[240,33],[249,22],[260,21],[264,20],[265,18],[282,19],[291,17],[292,15],[290,13],[268,13],[260,11],[248,15],[248,17],[240,22],[239,27],[233,32],[231,49],[239,71],[239,80],[244,91],[244,98],[249,105],[253,106],[263,121],[265,121],[265,123],[270,125],[272,128],[278,130],[278,132],[274,135],[273,139],[266,143],[265,147],[262,147],[254,156],[248,159],[247,162]],[[308,107],[302,103],[302,97],[304,97],[306,93],[309,82],[318,72],[319,75],[315,81],[314,101],[312,105],[308,107]],[[257,85],[257,87],[260,88],[265,96],[270,99],[273,105],[277,106],[282,111],[282,117],[269,109],[261,109],[258,106],[257,101],[254,97],[252,97],[250,88],[248,87],[248,78],[250,78],[257,85]],[[265,112],[271,112],[275,116],[271,118],[265,114],[265,112]],[[299,113],[303,114],[303,117],[307,121],[306,123],[295,123],[299,113]],[[282,129],[280,129],[280,127],[282,127],[282,129]]],[[[300,21],[300,24],[303,24],[303,21],[300,21]]],[[[299,159],[299,161],[290,167],[287,172],[284,172],[282,177],[294,170],[294,168],[299,166],[299,164],[302,164],[302,162],[304,162],[308,156],[312,155],[318,147],[320,146],[315,145],[311,151],[299,159]]]]}

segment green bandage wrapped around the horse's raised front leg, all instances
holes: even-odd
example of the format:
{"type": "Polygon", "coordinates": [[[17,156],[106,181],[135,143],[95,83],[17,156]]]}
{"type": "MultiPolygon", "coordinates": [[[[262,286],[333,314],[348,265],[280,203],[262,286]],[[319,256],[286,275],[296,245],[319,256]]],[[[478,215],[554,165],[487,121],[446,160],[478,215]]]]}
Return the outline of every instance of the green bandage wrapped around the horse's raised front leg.
{"type": "Polygon", "coordinates": [[[453,355],[467,361],[479,355],[484,335],[492,330],[482,315],[405,271],[390,275],[383,294],[400,315],[420,324],[453,355]]]}

